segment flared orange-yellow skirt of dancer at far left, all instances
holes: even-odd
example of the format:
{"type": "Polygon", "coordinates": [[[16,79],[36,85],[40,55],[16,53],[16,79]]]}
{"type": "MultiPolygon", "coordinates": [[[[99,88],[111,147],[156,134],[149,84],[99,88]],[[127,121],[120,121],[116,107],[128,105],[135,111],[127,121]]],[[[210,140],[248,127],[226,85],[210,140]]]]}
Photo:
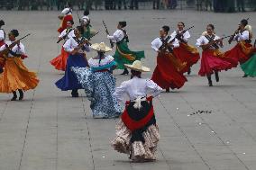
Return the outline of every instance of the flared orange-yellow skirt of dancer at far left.
{"type": "Polygon", "coordinates": [[[0,93],[12,93],[18,89],[34,89],[39,83],[34,72],[23,65],[21,58],[6,58],[5,69],[0,76],[0,93]]]}

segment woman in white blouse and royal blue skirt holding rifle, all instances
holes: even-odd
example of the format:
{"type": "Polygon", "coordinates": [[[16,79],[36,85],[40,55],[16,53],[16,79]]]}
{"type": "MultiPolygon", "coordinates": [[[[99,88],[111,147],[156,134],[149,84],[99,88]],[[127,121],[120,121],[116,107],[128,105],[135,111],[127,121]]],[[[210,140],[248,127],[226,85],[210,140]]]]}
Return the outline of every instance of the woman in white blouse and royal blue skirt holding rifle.
{"type": "Polygon", "coordinates": [[[78,97],[78,89],[82,89],[76,74],[71,71],[71,67],[87,67],[87,58],[85,51],[89,51],[89,41],[82,38],[83,27],[78,26],[74,29],[75,37],[65,42],[63,48],[69,52],[65,75],[59,79],[55,85],[62,90],[72,90],[72,97],[78,97]]]}

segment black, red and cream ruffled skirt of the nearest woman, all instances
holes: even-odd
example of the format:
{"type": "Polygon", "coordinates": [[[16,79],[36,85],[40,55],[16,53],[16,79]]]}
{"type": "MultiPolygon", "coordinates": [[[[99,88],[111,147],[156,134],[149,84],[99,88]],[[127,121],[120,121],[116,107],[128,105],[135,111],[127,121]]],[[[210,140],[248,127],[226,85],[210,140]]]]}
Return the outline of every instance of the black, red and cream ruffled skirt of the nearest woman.
{"type": "MultiPolygon", "coordinates": [[[[148,104],[148,101],[144,103],[148,104]]],[[[142,103],[142,110],[147,108],[144,103],[142,103]]],[[[133,107],[133,103],[130,103],[128,107],[133,107]]],[[[136,109],[134,110],[133,108],[132,112],[129,112],[130,109],[126,106],[122,120],[117,123],[115,128],[116,137],[111,142],[114,150],[130,155],[129,158],[135,162],[152,161],[156,159],[155,154],[160,134],[153,114],[150,121],[144,121],[153,113],[153,111],[151,111],[153,108],[149,109],[149,112],[142,112],[140,110],[136,111],[136,109]],[[130,122],[128,120],[132,121],[130,122]],[[128,125],[129,123],[131,124],[128,125]],[[138,129],[135,129],[133,125],[137,126],[138,129]]]]}

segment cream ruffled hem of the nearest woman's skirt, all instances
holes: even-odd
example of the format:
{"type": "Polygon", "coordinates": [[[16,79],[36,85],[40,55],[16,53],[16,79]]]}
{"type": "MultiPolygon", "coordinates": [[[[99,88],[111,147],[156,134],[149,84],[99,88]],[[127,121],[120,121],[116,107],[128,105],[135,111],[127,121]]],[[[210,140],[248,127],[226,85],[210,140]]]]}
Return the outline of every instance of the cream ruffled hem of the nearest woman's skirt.
{"type": "Polygon", "coordinates": [[[120,121],[116,125],[116,137],[111,142],[114,150],[130,155],[134,162],[153,161],[156,159],[155,152],[157,143],[160,139],[159,129],[157,125],[151,125],[148,130],[143,132],[145,143],[142,141],[130,142],[132,131],[127,129],[120,121]]]}

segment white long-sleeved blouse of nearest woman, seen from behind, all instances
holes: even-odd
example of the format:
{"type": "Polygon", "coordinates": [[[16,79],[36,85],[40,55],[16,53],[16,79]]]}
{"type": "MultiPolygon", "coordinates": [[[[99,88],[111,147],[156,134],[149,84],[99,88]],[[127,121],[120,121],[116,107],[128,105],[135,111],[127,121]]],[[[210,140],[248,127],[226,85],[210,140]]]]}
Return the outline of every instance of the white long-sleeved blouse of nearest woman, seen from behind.
{"type": "Polygon", "coordinates": [[[123,101],[123,95],[127,94],[131,101],[138,97],[145,97],[151,94],[153,97],[158,96],[162,88],[150,79],[142,79],[134,76],[133,79],[124,81],[119,87],[116,87],[114,96],[119,102],[123,101]]]}

